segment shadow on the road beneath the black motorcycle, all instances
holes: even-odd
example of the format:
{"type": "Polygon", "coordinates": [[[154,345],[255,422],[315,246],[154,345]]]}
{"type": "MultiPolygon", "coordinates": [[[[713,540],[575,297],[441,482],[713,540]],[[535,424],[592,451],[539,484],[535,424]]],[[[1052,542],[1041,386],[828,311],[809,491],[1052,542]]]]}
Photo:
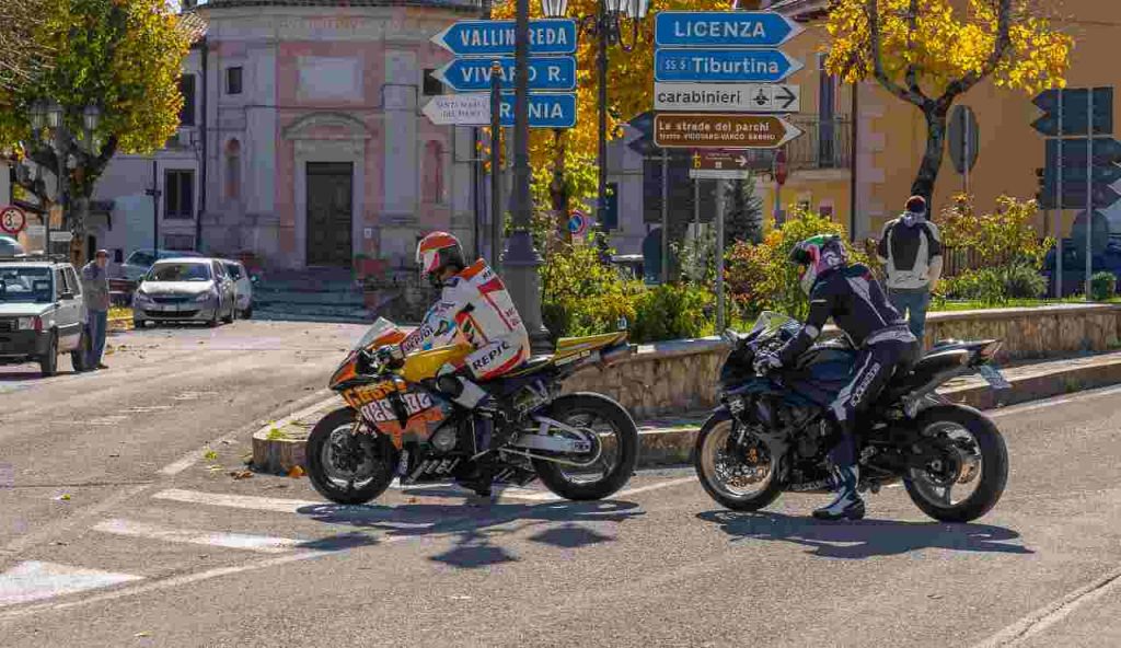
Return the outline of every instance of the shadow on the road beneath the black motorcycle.
{"type": "Polygon", "coordinates": [[[943,522],[901,522],[861,520],[826,522],[809,517],[782,513],[741,513],[728,510],[697,515],[720,525],[733,541],[772,540],[808,547],[825,558],[861,559],[895,556],[920,549],[948,549],[1002,554],[1034,554],[1019,543],[1020,534],[992,525],[949,525],[943,522]]]}

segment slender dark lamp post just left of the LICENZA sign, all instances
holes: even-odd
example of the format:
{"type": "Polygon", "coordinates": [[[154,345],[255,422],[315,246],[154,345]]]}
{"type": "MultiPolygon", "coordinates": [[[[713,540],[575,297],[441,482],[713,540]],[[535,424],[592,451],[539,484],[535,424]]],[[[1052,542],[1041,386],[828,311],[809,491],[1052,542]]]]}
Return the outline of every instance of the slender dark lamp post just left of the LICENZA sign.
{"type": "MultiPolygon", "coordinates": [[[[541,0],[547,18],[563,18],[568,0],[541,0]]],[[[631,52],[638,44],[638,25],[650,9],[650,0],[600,0],[596,12],[577,20],[581,31],[596,38],[596,78],[599,82],[599,178],[595,205],[595,225],[603,232],[608,212],[608,47],[618,45],[631,52]],[[623,17],[630,18],[630,43],[623,37],[623,17]]]]}

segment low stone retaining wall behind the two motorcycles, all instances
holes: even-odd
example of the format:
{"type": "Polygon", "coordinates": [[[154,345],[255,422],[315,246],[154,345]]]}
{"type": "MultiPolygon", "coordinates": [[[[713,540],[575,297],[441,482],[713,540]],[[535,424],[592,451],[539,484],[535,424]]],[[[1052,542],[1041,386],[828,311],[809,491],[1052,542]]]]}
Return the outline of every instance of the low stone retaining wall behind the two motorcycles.
{"type": "MultiPolygon", "coordinates": [[[[932,313],[927,345],[951,337],[997,339],[1004,341],[998,361],[1069,357],[1115,350],[1119,324],[1121,307],[1097,304],[932,313]]],[[[565,391],[605,394],[636,418],[706,409],[715,405],[726,353],[717,337],[645,344],[624,362],[573,376],[565,391]]]]}

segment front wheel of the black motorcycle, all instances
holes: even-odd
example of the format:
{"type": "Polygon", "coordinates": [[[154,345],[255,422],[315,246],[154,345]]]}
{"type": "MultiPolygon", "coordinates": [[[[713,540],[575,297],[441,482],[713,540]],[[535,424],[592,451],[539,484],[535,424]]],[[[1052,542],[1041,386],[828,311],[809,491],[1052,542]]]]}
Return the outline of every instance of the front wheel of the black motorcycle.
{"type": "MultiPolygon", "coordinates": [[[[701,427],[701,434],[697,435],[693,451],[693,468],[696,470],[697,479],[701,480],[705,492],[717,503],[733,511],[757,511],[770,506],[782,492],[782,483],[777,475],[778,462],[767,450],[766,444],[759,442],[760,447],[756,448],[757,462],[751,463],[750,466],[747,466],[745,462],[738,462],[738,468],[766,471],[761,481],[748,482],[760,485],[747,490],[729,483],[730,480],[722,478],[721,473],[726,472],[729,468],[726,465],[729,460],[726,447],[733,429],[733,420],[728,413],[717,413],[708,417],[708,420],[701,427]]],[[[748,476],[758,478],[758,472],[748,476]]]]}

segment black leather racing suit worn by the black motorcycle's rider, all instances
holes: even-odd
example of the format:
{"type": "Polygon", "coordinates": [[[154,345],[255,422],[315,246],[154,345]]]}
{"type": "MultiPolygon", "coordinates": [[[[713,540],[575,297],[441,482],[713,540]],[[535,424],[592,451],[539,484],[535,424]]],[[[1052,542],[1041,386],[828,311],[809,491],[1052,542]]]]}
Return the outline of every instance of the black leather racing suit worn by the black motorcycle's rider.
{"type": "Polygon", "coordinates": [[[809,315],[802,330],[779,351],[790,367],[833,318],[858,349],[852,380],[837,394],[830,414],[841,428],[841,441],[830,453],[834,465],[856,463],[854,418],[873,402],[897,369],[914,363],[919,344],[868,267],[860,263],[830,270],[817,278],[809,295],[809,315]]]}

